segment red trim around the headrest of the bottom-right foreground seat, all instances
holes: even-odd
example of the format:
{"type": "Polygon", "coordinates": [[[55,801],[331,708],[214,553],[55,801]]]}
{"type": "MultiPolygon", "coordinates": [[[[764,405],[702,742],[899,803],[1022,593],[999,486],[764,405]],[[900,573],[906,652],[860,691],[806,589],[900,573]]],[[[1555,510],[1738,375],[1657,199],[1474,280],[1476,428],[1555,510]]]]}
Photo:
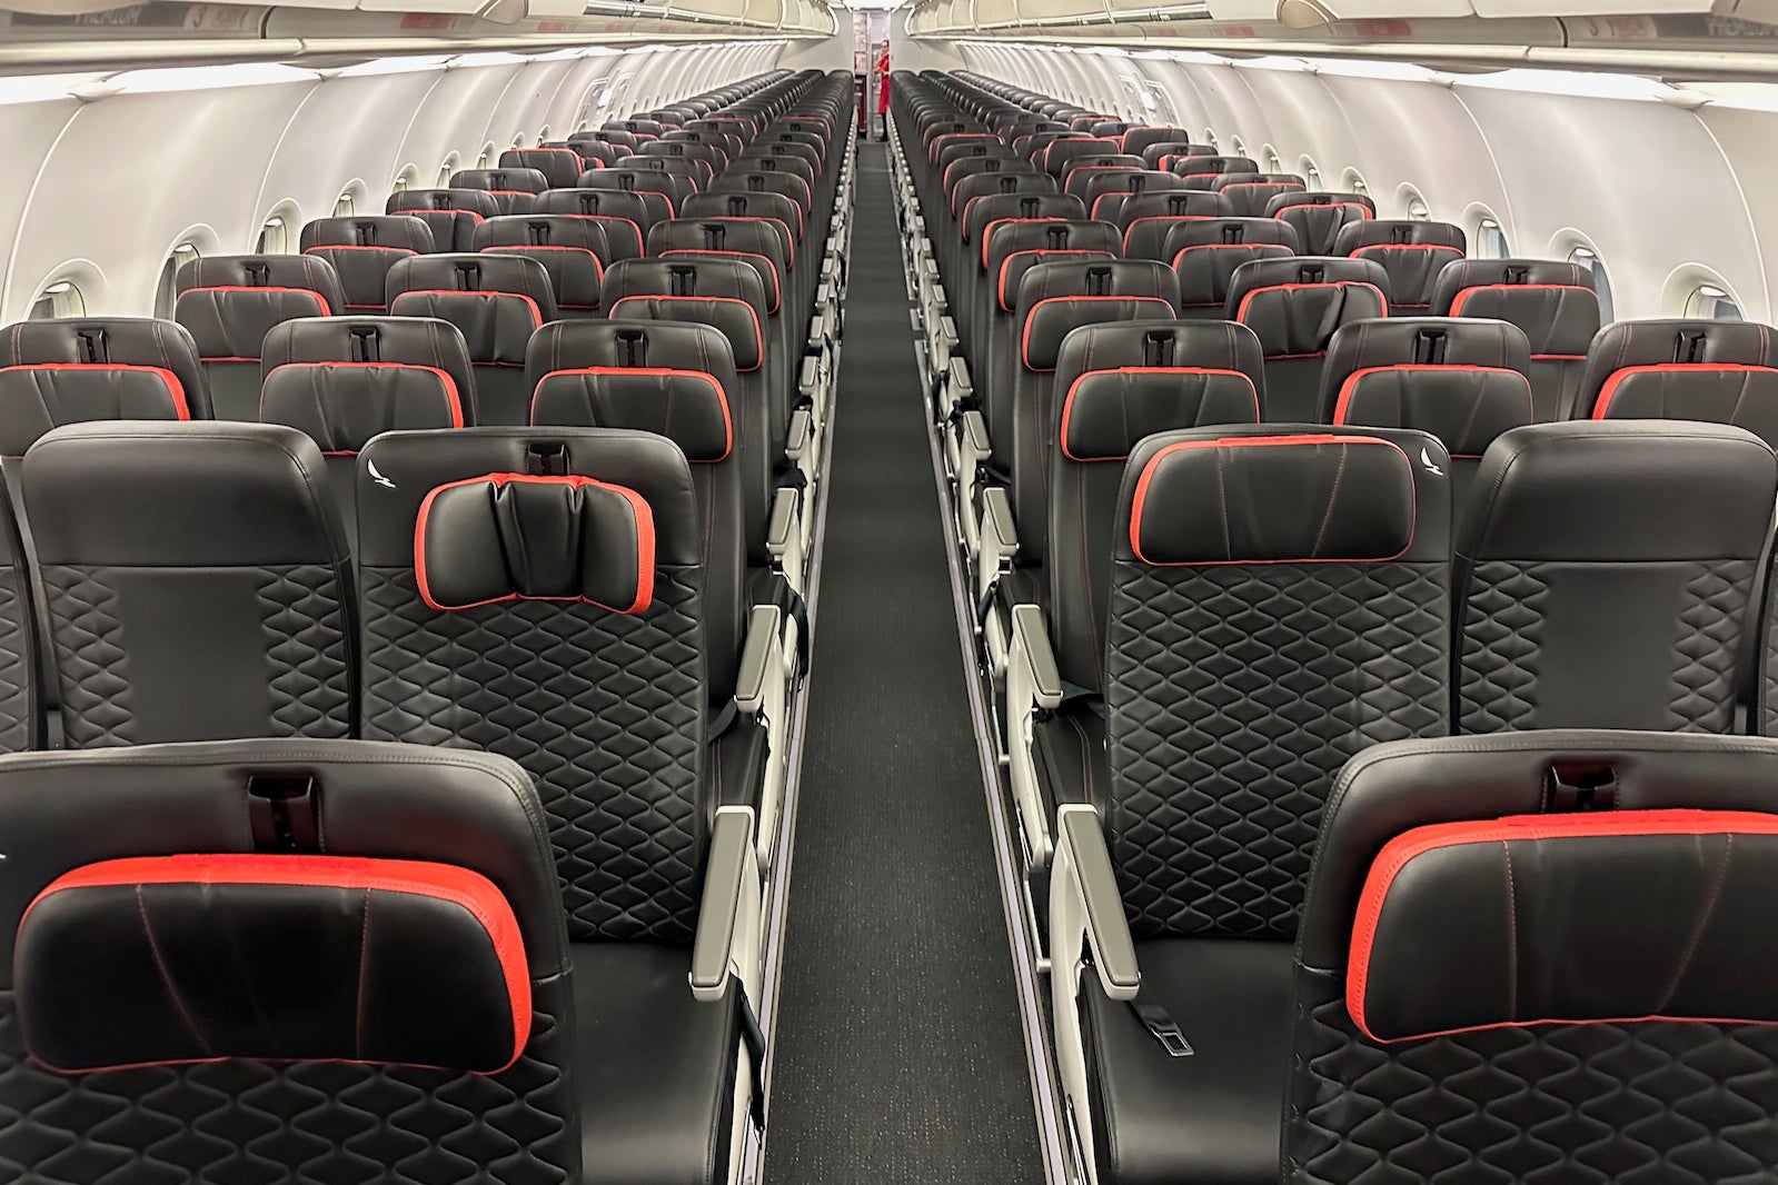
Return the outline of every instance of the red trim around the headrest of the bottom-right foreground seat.
{"type": "MultiPolygon", "coordinates": [[[[1371,872],[1364,881],[1364,894],[1358,897],[1358,915],[1353,922],[1351,950],[1346,963],[1346,1011],[1353,1023],[1371,1041],[1389,1045],[1374,1036],[1364,1018],[1364,990],[1371,972],[1371,954],[1376,945],[1376,924],[1382,919],[1389,890],[1403,869],[1417,856],[1442,847],[1463,847],[1470,844],[1508,844],[1513,840],[1582,840],[1582,839],[1622,839],[1632,835],[1778,835],[1778,815],[1753,810],[1613,810],[1584,812],[1565,815],[1506,815],[1501,819],[1467,819],[1462,823],[1435,823],[1412,828],[1383,844],[1383,849],[1371,862],[1371,872]]],[[[1556,1016],[1538,1020],[1502,1020],[1488,1025],[1470,1025],[1467,1029],[1447,1029],[1444,1032],[1414,1034],[1412,1038],[1394,1038],[1396,1041],[1422,1041],[1428,1038],[1447,1038],[1460,1032],[1483,1032],[1486,1029],[1527,1029],[1531,1025],[1636,1025],[1657,1020],[1687,1020],[1702,1023],[1748,1025],[1773,1023],[1764,1020],[1721,1020],[1703,1016],[1622,1016],[1613,1020],[1563,1020],[1556,1016]]]]}

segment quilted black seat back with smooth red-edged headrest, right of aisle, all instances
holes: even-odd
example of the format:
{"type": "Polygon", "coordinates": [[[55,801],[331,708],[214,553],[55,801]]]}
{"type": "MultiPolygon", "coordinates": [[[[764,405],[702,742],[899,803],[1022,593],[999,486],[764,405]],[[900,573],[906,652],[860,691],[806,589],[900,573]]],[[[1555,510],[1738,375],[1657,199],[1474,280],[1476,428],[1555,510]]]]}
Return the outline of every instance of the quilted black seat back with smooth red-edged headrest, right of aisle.
{"type": "Polygon", "coordinates": [[[1339,767],[1447,732],[1444,462],[1426,433],[1351,428],[1195,428],[1131,453],[1106,823],[1138,940],[1289,938],[1339,767]]]}

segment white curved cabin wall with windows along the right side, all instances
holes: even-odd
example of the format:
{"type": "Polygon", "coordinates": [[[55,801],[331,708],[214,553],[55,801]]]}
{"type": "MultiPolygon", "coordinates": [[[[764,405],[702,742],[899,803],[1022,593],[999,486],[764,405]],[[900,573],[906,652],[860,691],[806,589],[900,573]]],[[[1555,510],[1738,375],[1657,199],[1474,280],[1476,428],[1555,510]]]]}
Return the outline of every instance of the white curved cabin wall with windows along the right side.
{"type": "MultiPolygon", "coordinates": [[[[1145,82],[1193,137],[1264,167],[1362,178],[1382,217],[1419,195],[1474,243],[1494,217],[1517,256],[1604,259],[1616,318],[1678,316],[1698,284],[1773,320],[1778,87],[1670,91],[1636,78],[1440,76],[1415,68],[1232,62],[1205,53],[964,43],[969,69],[1083,107],[1129,110],[1145,82]],[[1774,245],[1767,256],[1762,247],[1774,245]]],[[[1163,110],[1165,117],[1165,110],[1163,110]]]]}

